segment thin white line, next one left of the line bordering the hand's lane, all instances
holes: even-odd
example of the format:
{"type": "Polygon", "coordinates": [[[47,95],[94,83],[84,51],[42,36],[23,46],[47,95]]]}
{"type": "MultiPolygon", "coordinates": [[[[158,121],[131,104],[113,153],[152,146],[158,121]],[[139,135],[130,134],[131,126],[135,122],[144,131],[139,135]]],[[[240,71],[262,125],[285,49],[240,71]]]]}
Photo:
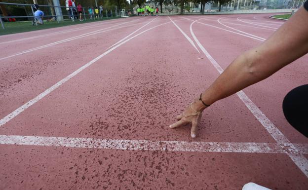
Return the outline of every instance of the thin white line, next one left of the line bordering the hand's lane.
{"type": "MultiPolygon", "coordinates": [[[[132,22],[132,21],[129,21],[129,22],[132,22]]],[[[42,49],[42,48],[46,48],[46,47],[50,47],[50,46],[57,45],[57,44],[60,44],[60,43],[64,43],[64,42],[67,42],[67,41],[71,41],[71,40],[74,40],[74,39],[84,38],[84,37],[100,34],[100,33],[103,33],[103,32],[108,32],[108,31],[112,31],[112,30],[116,30],[116,29],[120,29],[120,28],[124,28],[124,27],[130,27],[130,26],[133,26],[133,25],[138,25],[138,24],[141,24],[141,23],[136,23],[136,24],[132,24],[132,25],[128,25],[128,26],[122,26],[122,27],[114,28],[116,26],[124,25],[124,24],[127,24],[127,22],[121,23],[121,24],[118,24],[118,25],[115,25],[115,26],[107,27],[107,28],[104,28],[104,29],[96,30],[96,31],[93,31],[93,32],[85,33],[85,34],[82,34],[82,35],[79,35],[79,36],[76,36],[76,37],[66,38],[66,39],[56,41],[56,42],[48,43],[46,45],[31,48],[31,49],[28,49],[28,50],[25,50],[25,51],[22,51],[22,52],[19,52],[19,53],[10,55],[10,56],[2,57],[2,58],[0,58],[0,60],[8,59],[8,58],[11,58],[11,57],[15,57],[17,55],[22,55],[22,54],[25,54],[25,53],[29,53],[29,52],[36,51],[36,50],[39,50],[39,49],[42,49]],[[114,28],[114,29],[109,29],[109,28],[114,28]],[[106,29],[109,29],[109,30],[106,30],[106,29]]]]}

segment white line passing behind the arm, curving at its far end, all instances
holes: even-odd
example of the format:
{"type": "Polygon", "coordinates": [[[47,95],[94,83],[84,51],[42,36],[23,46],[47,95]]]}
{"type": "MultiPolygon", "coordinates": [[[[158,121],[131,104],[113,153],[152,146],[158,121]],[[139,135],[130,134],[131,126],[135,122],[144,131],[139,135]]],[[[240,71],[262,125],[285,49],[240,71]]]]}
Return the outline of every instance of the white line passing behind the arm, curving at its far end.
{"type": "MultiPolygon", "coordinates": [[[[217,71],[222,74],[223,69],[220,65],[214,60],[214,58],[206,51],[203,45],[195,37],[192,31],[193,21],[190,30],[192,33],[193,39],[196,41],[197,45],[200,47],[205,56],[210,60],[212,65],[217,69],[217,71]]],[[[283,135],[283,133],[269,120],[269,118],[262,113],[262,111],[248,98],[248,96],[241,90],[236,93],[236,95],[241,99],[241,101],[246,105],[249,111],[259,120],[259,122],[264,126],[264,128],[269,132],[270,136],[279,144],[282,149],[292,149],[294,152],[286,152],[288,156],[293,160],[293,162],[300,168],[300,170],[308,177],[308,159],[298,153],[299,150],[283,135]]]]}

